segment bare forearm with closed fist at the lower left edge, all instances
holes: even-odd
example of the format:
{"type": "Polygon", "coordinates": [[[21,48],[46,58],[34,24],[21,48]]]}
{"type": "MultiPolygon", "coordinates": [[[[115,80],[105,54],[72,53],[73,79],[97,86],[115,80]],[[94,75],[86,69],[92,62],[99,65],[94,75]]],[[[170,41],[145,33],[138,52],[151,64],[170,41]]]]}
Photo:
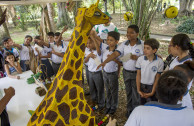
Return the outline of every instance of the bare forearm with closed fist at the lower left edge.
{"type": "Polygon", "coordinates": [[[9,87],[8,89],[4,89],[4,92],[5,92],[5,96],[0,100],[0,114],[6,108],[6,105],[8,104],[10,99],[15,95],[15,90],[12,87],[9,87]]]}

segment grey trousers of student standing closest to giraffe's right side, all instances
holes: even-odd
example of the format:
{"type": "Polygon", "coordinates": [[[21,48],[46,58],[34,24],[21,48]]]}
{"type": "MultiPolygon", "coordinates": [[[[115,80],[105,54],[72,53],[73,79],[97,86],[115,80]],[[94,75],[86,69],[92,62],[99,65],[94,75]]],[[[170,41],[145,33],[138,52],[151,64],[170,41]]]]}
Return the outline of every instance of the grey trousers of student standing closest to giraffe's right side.
{"type": "Polygon", "coordinates": [[[105,98],[102,71],[89,72],[89,87],[91,99],[98,103],[98,107],[104,107],[105,98]]]}

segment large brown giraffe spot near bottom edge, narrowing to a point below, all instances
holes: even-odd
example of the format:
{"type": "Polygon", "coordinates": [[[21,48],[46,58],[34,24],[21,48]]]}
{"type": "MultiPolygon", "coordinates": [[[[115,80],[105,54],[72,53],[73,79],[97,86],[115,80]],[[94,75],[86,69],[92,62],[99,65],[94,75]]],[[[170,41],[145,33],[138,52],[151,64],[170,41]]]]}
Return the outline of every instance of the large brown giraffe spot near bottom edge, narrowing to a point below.
{"type": "Polygon", "coordinates": [[[65,120],[66,124],[69,124],[69,118],[70,118],[70,108],[69,105],[66,103],[62,103],[58,106],[59,113],[65,120]]]}

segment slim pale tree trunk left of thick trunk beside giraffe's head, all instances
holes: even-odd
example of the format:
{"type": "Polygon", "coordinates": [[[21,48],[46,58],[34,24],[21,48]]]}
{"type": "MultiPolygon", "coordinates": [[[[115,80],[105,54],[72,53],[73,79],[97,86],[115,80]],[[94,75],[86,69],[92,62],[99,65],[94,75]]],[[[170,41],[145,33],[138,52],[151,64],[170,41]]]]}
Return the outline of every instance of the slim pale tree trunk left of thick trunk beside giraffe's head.
{"type": "Polygon", "coordinates": [[[48,16],[49,16],[49,21],[50,21],[50,25],[51,25],[51,31],[52,32],[56,32],[56,25],[54,22],[54,15],[53,15],[53,6],[51,3],[47,4],[47,8],[48,8],[48,16]]]}

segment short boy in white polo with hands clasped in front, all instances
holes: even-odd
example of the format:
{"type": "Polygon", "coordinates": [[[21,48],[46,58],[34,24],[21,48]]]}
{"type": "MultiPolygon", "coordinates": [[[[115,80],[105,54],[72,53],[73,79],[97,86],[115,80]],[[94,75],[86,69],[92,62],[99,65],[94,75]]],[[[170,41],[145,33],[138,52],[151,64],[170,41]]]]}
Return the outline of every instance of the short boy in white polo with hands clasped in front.
{"type": "Polygon", "coordinates": [[[156,101],[155,90],[158,79],[163,72],[164,62],[155,53],[159,48],[156,39],[148,39],[144,42],[144,56],[138,58],[137,68],[137,92],[141,96],[141,104],[148,101],[156,101]]]}

